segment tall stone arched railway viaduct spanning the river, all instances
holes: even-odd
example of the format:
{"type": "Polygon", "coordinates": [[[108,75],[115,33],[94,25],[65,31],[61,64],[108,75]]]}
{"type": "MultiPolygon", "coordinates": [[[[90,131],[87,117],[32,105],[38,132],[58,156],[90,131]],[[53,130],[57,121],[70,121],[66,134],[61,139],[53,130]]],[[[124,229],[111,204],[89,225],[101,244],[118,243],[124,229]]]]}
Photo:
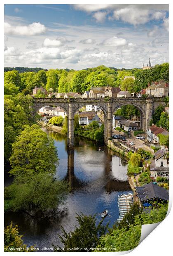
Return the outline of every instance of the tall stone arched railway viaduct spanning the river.
{"type": "Polygon", "coordinates": [[[108,145],[108,138],[112,136],[112,117],[115,111],[127,104],[137,107],[140,111],[140,126],[145,131],[149,128],[154,110],[161,104],[166,105],[164,98],[34,98],[33,115],[44,106],[61,107],[68,117],[68,147],[74,147],[74,115],[85,105],[97,105],[104,114],[104,140],[108,145]]]}

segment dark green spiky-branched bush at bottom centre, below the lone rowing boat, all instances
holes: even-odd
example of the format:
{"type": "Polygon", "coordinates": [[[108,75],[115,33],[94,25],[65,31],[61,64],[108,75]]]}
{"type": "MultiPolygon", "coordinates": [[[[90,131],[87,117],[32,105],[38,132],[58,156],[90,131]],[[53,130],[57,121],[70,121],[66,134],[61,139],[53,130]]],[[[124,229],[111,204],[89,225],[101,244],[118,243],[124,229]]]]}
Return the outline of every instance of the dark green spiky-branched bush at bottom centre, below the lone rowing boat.
{"type": "Polygon", "coordinates": [[[86,216],[83,213],[81,215],[76,213],[76,220],[78,226],[76,226],[74,231],[67,233],[62,228],[63,236],[58,235],[63,243],[64,251],[69,251],[70,248],[74,247],[82,248],[81,251],[88,251],[89,248],[95,248],[98,244],[99,237],[105,235],[108,224],[106,226],[102,225],[104,220],[102,219],[96,225],[96,215],[86,216]]]}

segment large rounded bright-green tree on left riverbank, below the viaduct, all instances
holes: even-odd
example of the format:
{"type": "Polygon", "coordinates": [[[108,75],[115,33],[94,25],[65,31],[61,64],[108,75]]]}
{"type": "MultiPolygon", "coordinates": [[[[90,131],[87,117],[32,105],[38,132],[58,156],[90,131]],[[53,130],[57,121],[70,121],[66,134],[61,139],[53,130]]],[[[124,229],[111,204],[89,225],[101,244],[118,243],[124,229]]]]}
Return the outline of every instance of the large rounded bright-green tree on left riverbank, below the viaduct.
{"type": "Polygon", "coordinates": [[[12,145],[9,160],[10,173],[14,176],[40,172],[54,174],[58,164],[54,141],[37,125],[25,126],[12,145]]]}

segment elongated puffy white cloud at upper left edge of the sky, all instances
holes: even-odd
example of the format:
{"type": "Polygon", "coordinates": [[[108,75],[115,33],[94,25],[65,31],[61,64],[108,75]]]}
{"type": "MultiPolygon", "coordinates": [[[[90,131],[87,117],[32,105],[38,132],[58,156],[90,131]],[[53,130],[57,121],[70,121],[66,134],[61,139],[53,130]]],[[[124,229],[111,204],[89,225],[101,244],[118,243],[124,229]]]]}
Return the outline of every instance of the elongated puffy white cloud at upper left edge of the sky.
{"type": "Polygon", "coordinates": [[[46,27],[40,22],[33,22],[27,26],[13,26],[5,22],[5,34],[19,36],[35,36],[46,32],[46,27]]]}

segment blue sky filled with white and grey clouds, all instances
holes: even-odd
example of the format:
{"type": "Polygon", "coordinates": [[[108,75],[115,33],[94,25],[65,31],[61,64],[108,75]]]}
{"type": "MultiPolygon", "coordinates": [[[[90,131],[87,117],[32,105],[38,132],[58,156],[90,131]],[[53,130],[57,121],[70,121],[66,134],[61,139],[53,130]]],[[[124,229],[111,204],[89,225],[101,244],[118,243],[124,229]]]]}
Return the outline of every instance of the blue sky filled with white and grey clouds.
{"type": "Polygon", "coordinates": [[[5,5],[5,66],[142,68],[168,62],[168,5],[5,5]]]}

